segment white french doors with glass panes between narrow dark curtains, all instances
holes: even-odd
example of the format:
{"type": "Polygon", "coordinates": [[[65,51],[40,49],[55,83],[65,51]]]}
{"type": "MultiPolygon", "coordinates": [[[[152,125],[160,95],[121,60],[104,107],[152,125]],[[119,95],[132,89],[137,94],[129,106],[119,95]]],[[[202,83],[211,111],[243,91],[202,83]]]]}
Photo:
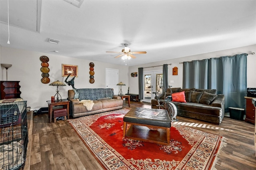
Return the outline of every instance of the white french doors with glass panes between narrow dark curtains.
{"type": "Polygon", "coordinates": [[[144,102],[151,103],[151,99],[155,98],[153,92],[162,93],[163,72],[162,71],[148,71],[143,72],[143,100],[144,102]]]}

